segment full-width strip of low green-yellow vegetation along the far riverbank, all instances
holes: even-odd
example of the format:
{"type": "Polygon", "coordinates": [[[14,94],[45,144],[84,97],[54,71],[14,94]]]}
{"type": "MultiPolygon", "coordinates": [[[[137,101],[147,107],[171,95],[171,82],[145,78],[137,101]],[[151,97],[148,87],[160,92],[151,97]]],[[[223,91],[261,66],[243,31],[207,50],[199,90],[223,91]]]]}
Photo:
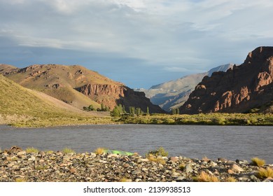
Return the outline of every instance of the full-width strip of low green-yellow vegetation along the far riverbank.
{"type": "Polygon", "coordinates": [[[35,116],[18,114],[0,114],[0,125],[14,127],[55,127],[69,125],[105,125],[105,124],[151,124],[151,125],[251,125],[272,126],[273,115],[264,113],[200,113],[186,114],[141,114],[110,116],[109,112],[80,113],[36,113],[35,116]],[[96,114],[97,113],[97,114],[96,114]],[[94,116],[92,116],[94,115],[94,116]]]}

